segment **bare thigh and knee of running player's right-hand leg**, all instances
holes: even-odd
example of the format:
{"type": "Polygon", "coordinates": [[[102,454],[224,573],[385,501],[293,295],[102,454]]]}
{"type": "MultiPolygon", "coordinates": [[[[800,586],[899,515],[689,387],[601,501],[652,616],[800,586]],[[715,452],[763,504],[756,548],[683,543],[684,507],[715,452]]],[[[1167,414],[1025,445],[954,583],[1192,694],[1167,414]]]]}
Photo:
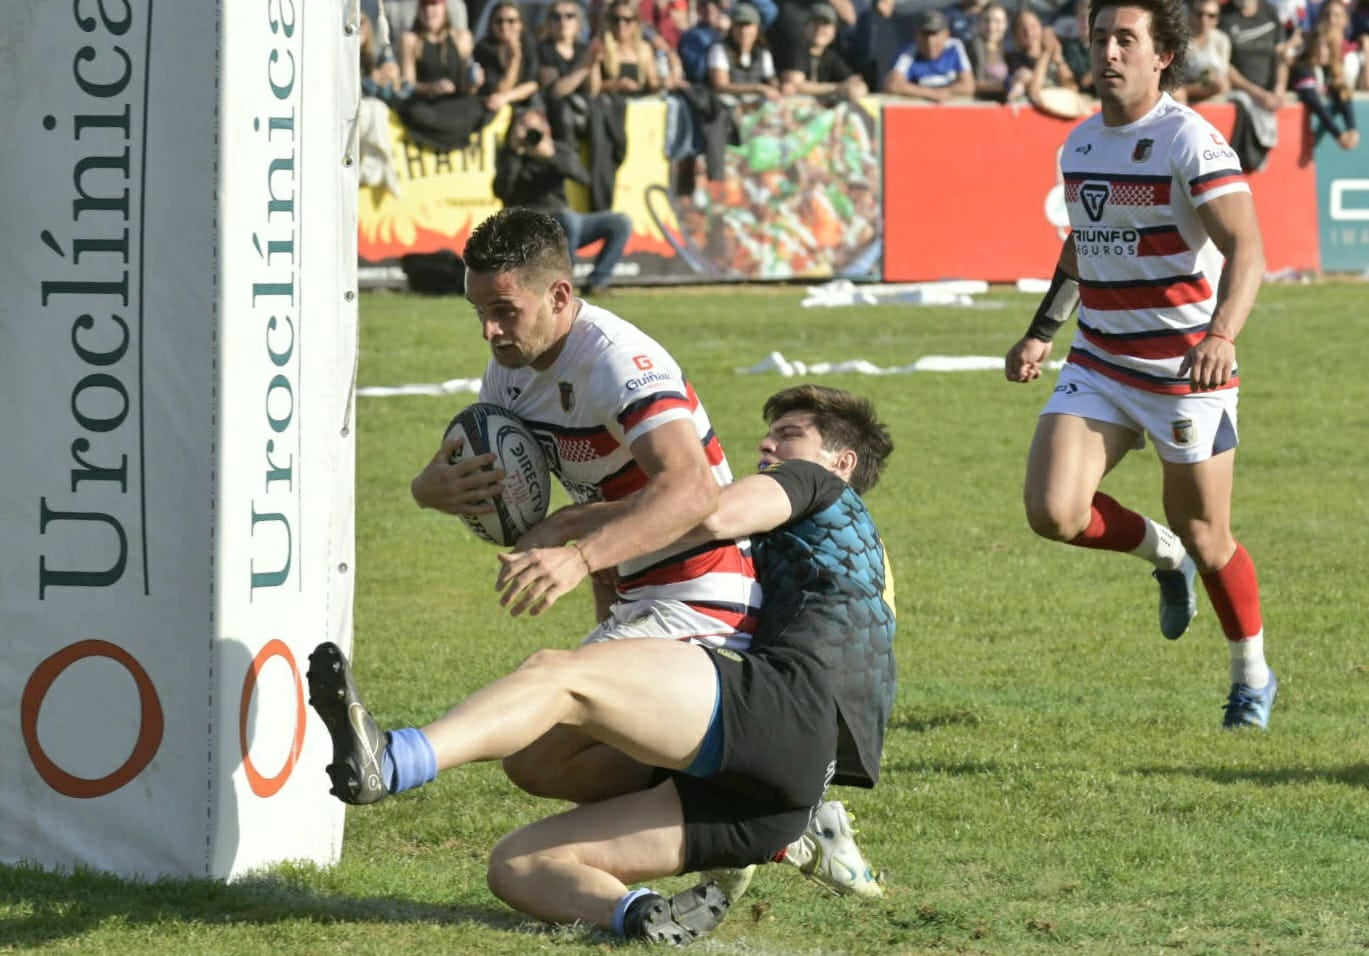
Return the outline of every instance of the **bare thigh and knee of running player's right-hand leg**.
{"type": "Polygon", "coordinates": [[[1227,566],[1236,551],[1231,534],[1231,489],[1236,449],[1197,463],[1161,462],[1165,518],[1203,573],[1227,566]]]}

